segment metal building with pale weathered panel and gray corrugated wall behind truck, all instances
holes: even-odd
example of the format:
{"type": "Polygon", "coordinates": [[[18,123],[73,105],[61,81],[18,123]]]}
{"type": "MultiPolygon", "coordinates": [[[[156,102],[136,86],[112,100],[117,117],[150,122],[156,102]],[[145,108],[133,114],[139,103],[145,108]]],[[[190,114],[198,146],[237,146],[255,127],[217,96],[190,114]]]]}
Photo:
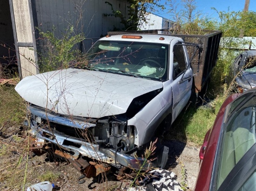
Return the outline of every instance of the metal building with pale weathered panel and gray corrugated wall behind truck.
{"type": "MultiPolygon", "coordinates": [[[[126,0],[108,1],[114,9],[128,14],[126,0]]],[[[92,41],[112,30],[114,25],[122,27],[119,18],[104,16],[112,13],[105,0],[1,0],[1,3],[4,4],[1,6],[10,9],[8,26],[12,25],[13,31],[9,28],[9,31],[2,33],[13,34],[10,45],[14,44],[16,50],[20,77],[39,73],[37,52],[42,42],[36,28],[42,32],[53,31],[55,28],[55,36],[61,38],[65,29],[72,25],[77,34],[85,34],[87,40],[83,45],[89,46],[92,41]]]]}

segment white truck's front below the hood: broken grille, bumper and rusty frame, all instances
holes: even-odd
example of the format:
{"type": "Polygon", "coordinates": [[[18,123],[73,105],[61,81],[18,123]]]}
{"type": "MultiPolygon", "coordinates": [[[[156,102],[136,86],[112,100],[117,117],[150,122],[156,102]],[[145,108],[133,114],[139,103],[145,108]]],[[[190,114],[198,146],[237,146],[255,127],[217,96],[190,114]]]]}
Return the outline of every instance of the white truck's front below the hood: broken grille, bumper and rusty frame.
{"type": "Polygon", "coordinates": [[[108,171],[110,165],[119,169],[123,166],[132,169],[152,167],[150,160],[137,157],[140,148],[135,147],[135,127],[128,126],[127,121],[113,116],[75,118],[52,111],[46,113],[45,109],[33,105],[28,106],[28,110],[35,146],[51,143],[56,154],[67,158],[82,173],[95,176],[108,171]],[[95,168],[91,172],[95,165],[102,166],[100,171],[95,168]]]}

